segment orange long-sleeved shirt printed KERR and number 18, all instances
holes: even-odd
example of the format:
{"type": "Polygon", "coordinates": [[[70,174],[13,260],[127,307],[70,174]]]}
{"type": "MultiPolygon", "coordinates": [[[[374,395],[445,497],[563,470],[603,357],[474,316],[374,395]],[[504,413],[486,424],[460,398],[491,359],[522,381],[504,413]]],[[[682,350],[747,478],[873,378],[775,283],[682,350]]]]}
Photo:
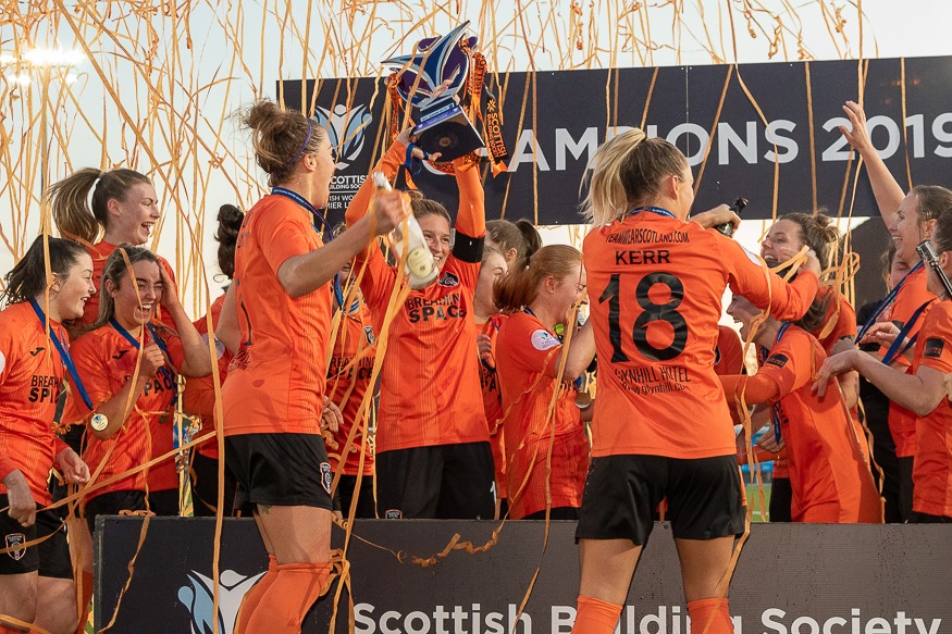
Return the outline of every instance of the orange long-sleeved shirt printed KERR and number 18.
{"type": "Polygon", "coordinates": [[[648,211],[594,228],[582,253],[598,355],[592,455],[732,456],[714,371],[725,288],[792,320],[816,276],[787,284],[716,231],[648,211]]]}

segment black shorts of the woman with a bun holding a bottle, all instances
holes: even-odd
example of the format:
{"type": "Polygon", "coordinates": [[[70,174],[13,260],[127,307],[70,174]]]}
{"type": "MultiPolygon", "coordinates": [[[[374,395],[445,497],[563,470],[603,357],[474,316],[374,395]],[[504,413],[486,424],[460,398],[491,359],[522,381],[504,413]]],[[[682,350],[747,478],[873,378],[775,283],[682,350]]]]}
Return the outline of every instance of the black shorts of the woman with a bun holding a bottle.
{"type": "Polygon", "coordinates": [[[225,438],[225,462],[238,480],[235,504],[333,510],[324,440],[318,434],[242,434],[225,438]]]}

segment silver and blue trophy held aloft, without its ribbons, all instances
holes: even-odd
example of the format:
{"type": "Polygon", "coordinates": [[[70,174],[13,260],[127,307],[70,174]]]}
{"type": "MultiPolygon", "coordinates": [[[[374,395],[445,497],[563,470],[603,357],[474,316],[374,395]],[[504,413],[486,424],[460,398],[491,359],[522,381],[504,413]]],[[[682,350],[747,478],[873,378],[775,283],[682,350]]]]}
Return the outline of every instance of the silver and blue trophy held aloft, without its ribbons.
{"type": "Polygon", "coordinates": [[[469,26],[465,22],[449,34],[421,40],[416,52],[384,60],[394,65],[395,89],[416,110],[413,136],[428,154],[440,152],[440,161],[453,161],[484,147],[482,135],[473,127],[459,92],[465,88],[470,71],[469,52],[475,37],[463,37],[469,26]],[[446,91],[433,96],[444,83],[446,91]]]}

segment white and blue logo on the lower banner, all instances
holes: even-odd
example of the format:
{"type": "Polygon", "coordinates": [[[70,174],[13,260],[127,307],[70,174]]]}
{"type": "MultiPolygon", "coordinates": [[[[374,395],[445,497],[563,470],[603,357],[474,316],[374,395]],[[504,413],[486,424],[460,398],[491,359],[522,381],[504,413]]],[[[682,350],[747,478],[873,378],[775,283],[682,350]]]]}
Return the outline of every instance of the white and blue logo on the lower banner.
{"type": "Polygon", "coordinates": [[[222,572],[219,583],[219,609],[215,612],[212,586],[214,582],[200,572],[194,570],[189,572],[189,585],[178,588],[178,600],[191,616],[191,634],[213,632],[215,621],[221,634],[232,634],[245,593],[251,589],[251,586],[263,575],[263,572],[254,576],[245,576],[234,570],[222,572]]]}

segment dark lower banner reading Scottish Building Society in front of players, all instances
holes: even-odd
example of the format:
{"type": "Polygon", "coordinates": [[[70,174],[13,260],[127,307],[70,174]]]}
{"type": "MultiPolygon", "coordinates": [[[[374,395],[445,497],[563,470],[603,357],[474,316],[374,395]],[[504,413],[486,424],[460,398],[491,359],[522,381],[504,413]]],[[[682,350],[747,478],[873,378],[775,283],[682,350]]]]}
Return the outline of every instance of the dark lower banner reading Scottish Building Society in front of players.
{"type": "MultiPolygon", "coordinates": [[[[108,518],[96,533],[96,629],[129,581],[143,520],[108,518]]],[[[557,634],[574,620],[579,589],[573,522],[509,522],[487,552],[436,557],[454,535],[479,546],[496,522],[358,521],[348,559],[357,634],[557,634]],[[398,558],[399,556],[399,558],[398,558]],[[432,559],[423,568],[413,557],[432,559]],[[536,567],[532,598],[519,605],[536,567]]],[[[334,531],[335,545],[343,533],[334,531]]],[[[267,569],[252,520],[225,520],[220,579],[212,577],[213,519],[153,518],[113,632],[231,634],[244,594],[267,569]],[[212,610],[218,583],[219,611],[212,610]]],[[[952,634],[949,525],[758,524],[730,589],[735,634],[952,634]]],[[[336,586],[311,610],[305,634],[329,631],[336,586]]],[[[618,634],[689,634],[670,526],[656,524],[618,634]]],[[[343,595],[337,633],[347,632],[343,595]]]]}

